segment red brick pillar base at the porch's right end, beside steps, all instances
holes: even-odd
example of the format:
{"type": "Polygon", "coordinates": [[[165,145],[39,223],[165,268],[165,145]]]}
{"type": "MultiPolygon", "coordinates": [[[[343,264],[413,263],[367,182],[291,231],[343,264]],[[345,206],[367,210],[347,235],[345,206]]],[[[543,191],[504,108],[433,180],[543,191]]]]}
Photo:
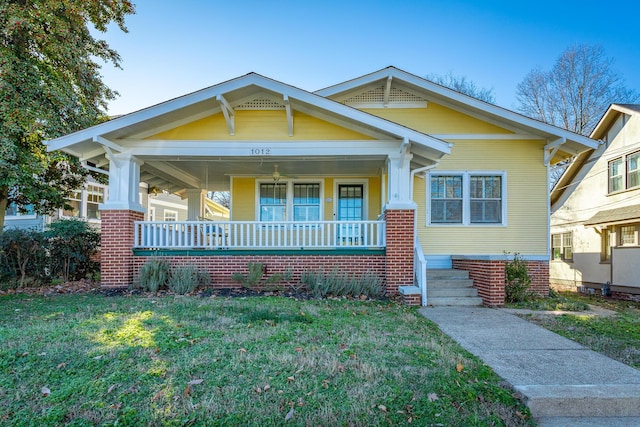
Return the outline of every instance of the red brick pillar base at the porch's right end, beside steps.
{"type": "Polygon", "coordinates": [[[411,209],[388,209],[386,221],[387,295],[398,294],[398,287],[413,285],[414,218],[411,209]]]}

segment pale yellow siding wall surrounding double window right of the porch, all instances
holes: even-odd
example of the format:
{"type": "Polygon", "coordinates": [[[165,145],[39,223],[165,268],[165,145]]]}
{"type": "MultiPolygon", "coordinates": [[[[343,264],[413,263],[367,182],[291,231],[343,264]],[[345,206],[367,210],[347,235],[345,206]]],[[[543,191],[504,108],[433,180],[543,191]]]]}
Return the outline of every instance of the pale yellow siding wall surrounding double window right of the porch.
{"type": "Polygon", "coordinates": [[[426,182],[416,178],[418,236],[425,254],[547,253],[548,195],[542,141],[458,141],[436,171],[506,171],[507,226],[426,226],[426,182]]]}

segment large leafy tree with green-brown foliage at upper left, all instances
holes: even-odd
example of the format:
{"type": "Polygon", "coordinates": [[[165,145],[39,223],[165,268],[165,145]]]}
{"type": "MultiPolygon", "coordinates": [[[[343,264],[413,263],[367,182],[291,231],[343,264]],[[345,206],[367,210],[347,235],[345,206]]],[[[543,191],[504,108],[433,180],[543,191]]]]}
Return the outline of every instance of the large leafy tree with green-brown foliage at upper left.
{"type": "Polygon", "coordinates": [[[96,61],[120,67],[120,56],[89,25],[126,32],[132,13],[129,0],[0,0],[0,232],[9,203],[49,213],[84,183],[78,160],[43,141],[105,116],[117,93],[96,61]]]}

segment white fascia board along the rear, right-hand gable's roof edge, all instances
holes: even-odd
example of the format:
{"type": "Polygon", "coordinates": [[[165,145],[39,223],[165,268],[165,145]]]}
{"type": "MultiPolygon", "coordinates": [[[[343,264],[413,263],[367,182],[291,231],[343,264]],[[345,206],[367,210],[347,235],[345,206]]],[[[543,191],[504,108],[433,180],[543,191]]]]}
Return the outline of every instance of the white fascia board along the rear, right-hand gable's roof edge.
{"type": "Polygon", "coordinates": [[[407,73],[406,71],[402,71],[395,67],[387,67],[382,70],[376,71],[374,73],[362,76],[360,78],[349,80],[345,83],[331,86],[314,93],[320,96],[329,97],[337,93],[352,90],[359,86],[364,86],[366,84],[379,81],[382,79],[386,79],[389,77],[393,79],[397,79],[399,81],[407,82],[414,86],[420,87],[426,90],[427,92],[432,92],[442,97],[449,98],[454,102],[465,104],[472,109],[480,110],[488,115],[500,117],[504,120],[511,121],[517,125],[525,126],[546,134],[551,134],[557,138],[564,137],[567,140],[574,141],[584,145],[585,149],[597,148],[598,146],[598,143],[596,141],[593,141],[591,138],[588,138],[586,136],[582,136],[582,135],[573,133],[571,131],[568,131],[566,129],[562,129],[538,120],[531,119],[529,117],[523,116],[522,114],[515,113],[513,111],[507,110],[505,108],[499,107],[494,104],[480,101],[479,99],[462,94],[460,92],[456,92],[445,86],[441,86],[439,84],[433,83],[427,79],[418,77],[414,74],[407,73]]]}

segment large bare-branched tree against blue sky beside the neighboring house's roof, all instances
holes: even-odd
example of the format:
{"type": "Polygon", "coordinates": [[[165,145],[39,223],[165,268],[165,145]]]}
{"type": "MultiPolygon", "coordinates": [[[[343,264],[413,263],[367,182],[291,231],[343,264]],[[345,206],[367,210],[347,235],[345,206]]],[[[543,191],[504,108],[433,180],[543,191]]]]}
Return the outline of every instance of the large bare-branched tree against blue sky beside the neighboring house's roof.
{"type": "Polygon", "coordinates": [[[550,71],[534,68],[516,90],[518,111],[581,135],[591,133],[609,104],[638,98],[602,46],[586,44],[567,48],[550,71]]]}

